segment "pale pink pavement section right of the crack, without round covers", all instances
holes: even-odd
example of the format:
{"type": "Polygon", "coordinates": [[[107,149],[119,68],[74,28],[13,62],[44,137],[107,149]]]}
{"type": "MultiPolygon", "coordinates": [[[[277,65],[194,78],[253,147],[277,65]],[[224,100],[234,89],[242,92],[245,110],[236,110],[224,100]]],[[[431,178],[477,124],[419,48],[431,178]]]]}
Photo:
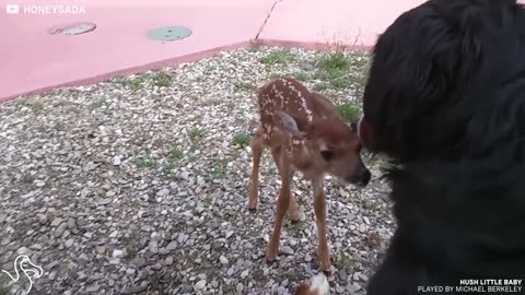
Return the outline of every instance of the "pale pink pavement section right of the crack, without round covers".
{"type": "Polygon", "coordinates": [[[370,47],[394,20],[423,0],[283,0],[271,14],[261,39],[282,44],[317,44],[343,40],[370,47]]]}

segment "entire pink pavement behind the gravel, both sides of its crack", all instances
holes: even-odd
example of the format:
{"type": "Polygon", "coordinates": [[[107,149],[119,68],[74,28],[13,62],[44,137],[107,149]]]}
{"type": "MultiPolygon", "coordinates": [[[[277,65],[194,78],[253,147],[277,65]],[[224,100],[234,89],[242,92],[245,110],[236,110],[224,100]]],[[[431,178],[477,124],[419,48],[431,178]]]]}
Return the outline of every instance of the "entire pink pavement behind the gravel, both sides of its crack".
{"type": "Polygon", "coordinates": [[[0,0],[0,102],[49,88],[93,83],[209,57],[219,50],[264,44],[368,48],[400,13],[423,0],[0,0]],[[7,14],[5,5],[79,5],[85,14],[7,14]],[[52,26],[93,22],[75,36],[52,26]],[[183,25],[186,39],[161,43],[149,30],[183,25]]]}

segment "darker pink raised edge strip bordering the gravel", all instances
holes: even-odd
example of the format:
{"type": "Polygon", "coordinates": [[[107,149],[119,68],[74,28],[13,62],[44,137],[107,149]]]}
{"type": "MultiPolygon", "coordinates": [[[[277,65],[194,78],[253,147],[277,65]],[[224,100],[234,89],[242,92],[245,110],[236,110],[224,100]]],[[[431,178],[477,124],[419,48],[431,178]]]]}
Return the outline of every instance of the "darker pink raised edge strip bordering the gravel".
{"type": "MultiPolygon", "coordinates": [[[[83,85],[91,85],[95,83],[100,83],[109,79],[114,79],[117,76],[121,75],[130,75],[130,74],[137,74],[137,73],[142,73],[147,71],[152,71],[152,70],[159,70],[165,67],[174,67],[180,63],[185,62],[195,62],[199,61],[201,59],[207,59],[211,58],[214,55],[221,52],[221,51],[229,51],[229,50],[234,50],[238,48],[247,48],[249,46],[254,45],[262,45],[262,46],[270,46],[270,47],[284,47],[284,48],[304,48],[308,50],[328,50],[330,49],[329,44],[325,43],[315,43],[315,42],[292,42],[292,40],[278,40],[278,39],[252,39],[247,42],[241,42],[236,44],[231,44],[226,46],[221,46],[221,47],[215,47],[212,49],[208,49],[205,51],[199,51],[199,52],[194,52],[189,55],[185,55],[182,57],[176,57],[176,58],[170,58],[165,60],[160,60],[160,61],[154,61],[150,62],[143,66],[138,66],[138,67],[131,67],[122,70],[117,70],[91,78],[85,78],[85,79],[80,79],[80,80],[74,80],[66,83],[60,83],[51,86],[45,86],[40,88],[36,88],[33,91],[26,91],[26,92],[21,92],[14,95],[10,96],[4,96],[0,97],[0,104],[4,104],[11,101],[14,101],[16,98],[20,98],[21,96],[26,96],[26,95],[40,95],[45,94],[51,91],[65,88],[65,87],[71,87],[71,86],[83,86],[83,85]]],[[[354,50],[366,50],[370,51],[372,48],[371,46],[345,46],[347,49],[354,49],[354,50]]]]}

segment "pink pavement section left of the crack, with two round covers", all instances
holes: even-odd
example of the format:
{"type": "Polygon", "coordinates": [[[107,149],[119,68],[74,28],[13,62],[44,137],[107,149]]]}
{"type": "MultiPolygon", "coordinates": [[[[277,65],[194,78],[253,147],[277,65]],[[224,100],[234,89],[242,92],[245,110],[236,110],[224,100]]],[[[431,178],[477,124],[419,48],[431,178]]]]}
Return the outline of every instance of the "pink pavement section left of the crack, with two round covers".
{"type": "MultiPolygon", "coordinates": [[[[24,1],[0,0],[0,101],[51,87],[197,60],[254,38],[273,0],[24,1]],[[5,4],[83,5],[85,14],[7,14],[5,4]],[[94,22],[91,33],[47,31],[62,23],[94,22]],[[189,38],[160,43],[149,30],[184,25],[189,38]]],[[[21,8],[22,9],[22,8],[21,8]]]]}

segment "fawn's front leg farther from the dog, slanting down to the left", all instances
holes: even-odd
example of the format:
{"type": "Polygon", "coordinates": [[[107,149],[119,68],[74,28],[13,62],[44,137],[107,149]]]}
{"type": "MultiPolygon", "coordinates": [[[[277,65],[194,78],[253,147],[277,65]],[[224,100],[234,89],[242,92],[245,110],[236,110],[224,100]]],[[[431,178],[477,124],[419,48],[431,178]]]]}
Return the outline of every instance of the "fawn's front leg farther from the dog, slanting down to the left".
{"type": "Polygon", "coordinates": [[[279,174],[281,176],[281,190],[279,191],[279,198],[277,199],[276,220],[273,225],[273,232],[271,233],[270,243],[266,249],[266,259],[271,262],[276,260],[277,252],[279,250],[279,240],[281,237],[282,221],[284,214],[290,205],[290,185],[292,180],[293,172],[290,168],[289,160],[281,153],[279,174]]]}

